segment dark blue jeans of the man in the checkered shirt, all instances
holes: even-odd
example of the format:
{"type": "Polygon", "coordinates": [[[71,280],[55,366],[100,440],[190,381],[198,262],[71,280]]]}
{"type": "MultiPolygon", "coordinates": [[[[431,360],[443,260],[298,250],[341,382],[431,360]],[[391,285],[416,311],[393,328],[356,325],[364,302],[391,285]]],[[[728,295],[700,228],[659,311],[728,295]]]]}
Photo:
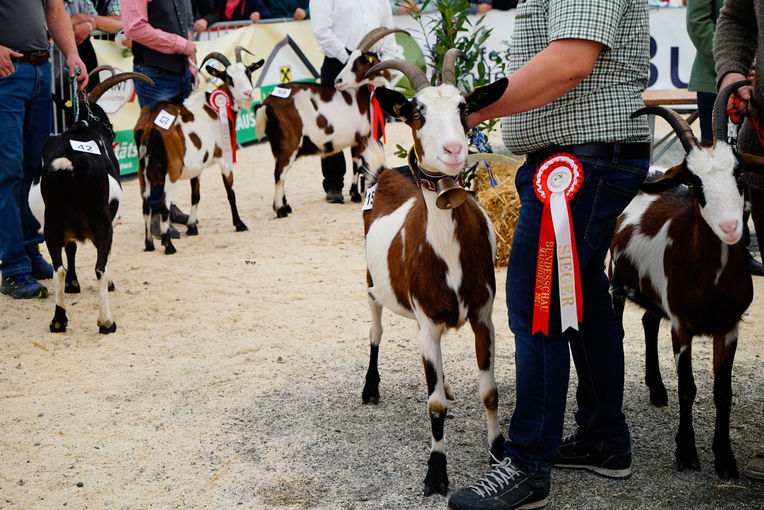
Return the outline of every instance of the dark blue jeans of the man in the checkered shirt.
{"type": "Polygon", "coordinates": [[[548,478],[562,437],[570,353],[578,373],[576,423],[595,448],[631,449],[623,402],[623,331],[618,325],[604,272],[605,254],[618,215],[644,181],[648,160],[585,159],[584,181],[570,206],[583,293],[580,331],[560,331],[555,266],[549,335],[531,335],[536,258],[543,204],[533,179],[542,161],[526,162],[515,185],[522,207],[507,271],[509,325],[515,334],[516,403],[505,453],[534,478],[548,478]]]}

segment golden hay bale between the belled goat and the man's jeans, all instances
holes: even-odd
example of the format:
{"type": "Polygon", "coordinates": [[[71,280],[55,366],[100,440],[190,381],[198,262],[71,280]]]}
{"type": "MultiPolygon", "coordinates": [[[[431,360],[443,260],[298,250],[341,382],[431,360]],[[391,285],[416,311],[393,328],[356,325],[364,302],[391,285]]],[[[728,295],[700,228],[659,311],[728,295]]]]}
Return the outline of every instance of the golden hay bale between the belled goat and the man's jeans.
{"type": "Polygon", "coordinates": [[[485,167],[481,164],[473,180],[477,201],[493,222],[496,232],[496,265],[503,267],[509,260],[509,248],[520,212],[520,197],[515,189],[515,172],[523,160],[508,157],[507,164],[491,163],[491,172],[497,185],[491,186],[485,167]]]}

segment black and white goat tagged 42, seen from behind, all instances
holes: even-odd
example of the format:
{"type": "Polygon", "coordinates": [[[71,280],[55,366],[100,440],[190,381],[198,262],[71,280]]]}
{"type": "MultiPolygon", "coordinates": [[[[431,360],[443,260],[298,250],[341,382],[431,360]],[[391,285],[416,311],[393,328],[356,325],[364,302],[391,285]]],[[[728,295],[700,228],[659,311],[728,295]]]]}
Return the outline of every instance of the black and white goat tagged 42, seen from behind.
{"type": "Polygon", "coordinates": [[[98,253],[95,266],[100,298],[98,331],[106,334],[117,330],[109,309],[109,290],[113,284],[109,280],[107,262],[122,187],[119,163],[112,149],[114,131],[109,117],[96,101],[114,85],[134,78],[154,84],[148,77],[132,72],[104,80],[87,99],[72,98],[77,101],[82,118],[43,144],[42,160],[29,190],[29,206],[40,222],[56,271],[56,311],[50,322],[53,333],[66,331],[69,321],[64,291],[79,292],[74,256],[76,242],[86,239],[95,245],[98,253]],[[61,254],[64,249],[66,268],[61,254]]]}

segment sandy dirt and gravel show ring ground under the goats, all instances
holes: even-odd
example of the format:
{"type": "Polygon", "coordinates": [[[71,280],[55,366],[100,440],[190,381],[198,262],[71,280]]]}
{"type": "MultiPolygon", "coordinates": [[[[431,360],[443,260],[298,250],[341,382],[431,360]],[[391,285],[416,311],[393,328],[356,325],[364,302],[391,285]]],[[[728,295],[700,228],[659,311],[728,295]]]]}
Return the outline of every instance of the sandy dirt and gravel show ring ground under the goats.
{"type": "MultiPolygon", "coordinates": [[[[389,152],[408,144],[388,126],[389,152]]],[[[216,168],[202,175],[199,235],[178,253],[143,251],[138,183],[125,179],[122,224],[109,269],[118,329],[100,335],[95,250],[80,247],[83,291],[67,295],[69,328],[48,332],[54,298],[0,296],[0,508],[444,508],[421,496],[430,427],[416,325],[383,315],[381,402],[361,405],[369,310],[361,209],[327,204],[319,160],[287,176],[294,210],[271,210],[266,144],[240,150],[235,232],[216,168]]],[[[388,158],[395,164],[394,157],[388,158]]],[[[347,189],[347,184],[346,184],[347,189]]],[[[178,203],[188,210],[183,187],[178,203]]],[[[183,231],[183,229],[181,230],[183,231]]],[[[494,322],[500,421],[514,400],[514,344],[504,269],[494,322]]],[[[50,290],[52,280],[45,282],[50,290]]],[[[764,278],[742,324],[733,369],[732,445],[742,467],[764,449],[764,278]]],[[[764,508],[764,485],[720,481],[713,469],[714,406],[708,339],[693,346],[699,472],[678,472],[676,375],[661,329],[668,407],[649,405],[640,312],[626,314],[625,412],[634,475],[613,481],[555,471],[550,509],[764,508]]],[[[456,490],[487,468],[469,328],[443,342],[457,400],[446,424],[456,490]]],[[[566,430],[572,428],[575,374],[566,430]]]]}

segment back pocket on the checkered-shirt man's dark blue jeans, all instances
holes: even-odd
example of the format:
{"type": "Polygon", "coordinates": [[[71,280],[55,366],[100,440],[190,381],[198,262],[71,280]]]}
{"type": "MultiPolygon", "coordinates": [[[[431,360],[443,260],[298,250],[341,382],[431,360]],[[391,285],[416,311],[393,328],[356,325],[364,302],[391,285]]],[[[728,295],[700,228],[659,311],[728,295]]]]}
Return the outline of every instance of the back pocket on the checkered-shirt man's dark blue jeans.
{"type": "Polygon", "coordinates": [[[637,182],[635,179],[635,188],[628,189],[604,180],[599,181],[584,234],[584,239],[592,250],[600,248],[603,243],[610,243],[618,216],[636,196],[640,184],[641,181],[637,182]]]}

